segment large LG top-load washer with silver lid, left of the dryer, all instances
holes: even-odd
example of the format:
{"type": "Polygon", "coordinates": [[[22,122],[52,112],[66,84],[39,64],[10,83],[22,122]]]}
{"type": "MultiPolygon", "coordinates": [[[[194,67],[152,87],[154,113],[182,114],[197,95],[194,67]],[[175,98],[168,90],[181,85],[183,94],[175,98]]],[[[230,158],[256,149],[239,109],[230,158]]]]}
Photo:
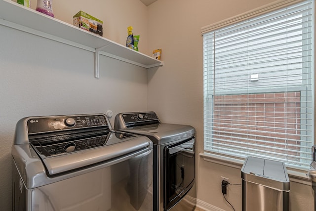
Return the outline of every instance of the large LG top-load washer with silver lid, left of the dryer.
{"type": "Polygon", "coordinates": [[[114,131],[104,114],[23,118],[12,146],[12,210],[150,211],[152,156],[149,138],[114,131]]]}

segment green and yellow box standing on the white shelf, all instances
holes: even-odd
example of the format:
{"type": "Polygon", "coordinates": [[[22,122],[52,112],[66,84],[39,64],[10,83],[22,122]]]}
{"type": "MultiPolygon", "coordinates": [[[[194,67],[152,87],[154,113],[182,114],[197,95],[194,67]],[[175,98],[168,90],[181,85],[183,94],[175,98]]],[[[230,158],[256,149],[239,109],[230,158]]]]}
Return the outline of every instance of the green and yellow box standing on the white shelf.
{"type": "Polygon", "coordinates": [[[103,21],[81,10],[74,15],[74,26],[103,36],[103,21]]]}

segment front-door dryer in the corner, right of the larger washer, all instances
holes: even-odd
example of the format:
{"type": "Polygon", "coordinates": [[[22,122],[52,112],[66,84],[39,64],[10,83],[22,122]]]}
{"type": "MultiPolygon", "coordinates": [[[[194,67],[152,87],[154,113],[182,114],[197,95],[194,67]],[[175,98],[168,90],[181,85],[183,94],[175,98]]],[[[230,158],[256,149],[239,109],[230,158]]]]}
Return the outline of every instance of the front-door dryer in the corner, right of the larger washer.
{"type": "Polygon", "coordinates": [[[154,144],[154,211],[194,210],[195,128],[161,123],[155,112],[128,112],[116,115],[114,129],[154,144]]]}

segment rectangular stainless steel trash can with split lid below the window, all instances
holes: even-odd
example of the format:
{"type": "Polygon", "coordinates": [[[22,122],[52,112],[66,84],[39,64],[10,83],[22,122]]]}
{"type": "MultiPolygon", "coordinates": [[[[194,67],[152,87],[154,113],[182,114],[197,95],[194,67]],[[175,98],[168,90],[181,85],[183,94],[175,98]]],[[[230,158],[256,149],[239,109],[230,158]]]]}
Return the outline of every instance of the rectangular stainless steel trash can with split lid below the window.
{"type": "Polygon", "coordinates": [[[242,211],[288,211],[290,180],[284,163],[247,157],[241,168],[242,211]]]}

